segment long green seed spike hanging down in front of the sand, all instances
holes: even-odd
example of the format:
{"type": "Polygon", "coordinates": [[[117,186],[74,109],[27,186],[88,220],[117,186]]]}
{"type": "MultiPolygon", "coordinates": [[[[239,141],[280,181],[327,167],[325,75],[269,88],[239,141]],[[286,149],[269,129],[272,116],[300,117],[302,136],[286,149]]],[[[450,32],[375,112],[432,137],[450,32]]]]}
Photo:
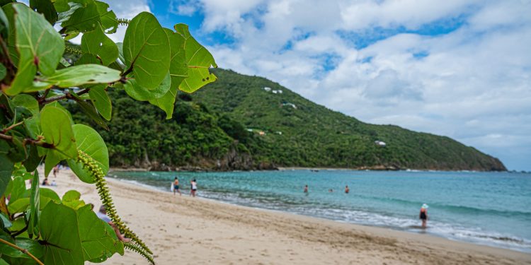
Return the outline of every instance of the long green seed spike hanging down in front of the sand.
{"type": "Polygon", "coordinates": [[[83,167],[90,172],[94,179],[96,179],[96,189],[98,189],[101,202],[105,206],[105,211],[107,211],[107,215],[109,216],[110,220],[113,220],[113,223],[125,235],[125,237],[129,237],[133,242],[136,243],[134,247],[141,251],[137,252],[152,262],[153,260],[149,259],[148,257],[151,257],[149,254],[153,254],[153,252],[144,244],[144,242],[142,242],[142,240],[139,239],[135,232],[132,232],[132,230],[130,230],[125,223],[123,223],[120,216],[118,216],[118,213],[116,213],[113,199],[110,196],[109,189],[107,187],[107,182],[105,182],[103,170],[96,165],[96,162],[93,160],[93,158],[81,150],[78,150],[77,160],[83,164],[83,167]],[[146,252],[148,254],[144,255],[146,252]]]}

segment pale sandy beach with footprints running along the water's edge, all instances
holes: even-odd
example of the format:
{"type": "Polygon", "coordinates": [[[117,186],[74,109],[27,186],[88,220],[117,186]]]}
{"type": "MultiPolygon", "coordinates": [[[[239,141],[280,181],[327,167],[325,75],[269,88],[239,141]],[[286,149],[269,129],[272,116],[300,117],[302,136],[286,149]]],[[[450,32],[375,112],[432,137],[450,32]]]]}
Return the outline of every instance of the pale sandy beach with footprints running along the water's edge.
{"type": "MultiPolygon", "coordinates": [[[[50,180],[59,196],[76,189],[86,203],[101,205],[95,187],[69,170],[50,180]]],[[[156,264],[531,264],[531,254],[508,249],[108,184],[118,213],[156,264]]],[[[126,252],[108,264],[147,261],[126,252]]]]}

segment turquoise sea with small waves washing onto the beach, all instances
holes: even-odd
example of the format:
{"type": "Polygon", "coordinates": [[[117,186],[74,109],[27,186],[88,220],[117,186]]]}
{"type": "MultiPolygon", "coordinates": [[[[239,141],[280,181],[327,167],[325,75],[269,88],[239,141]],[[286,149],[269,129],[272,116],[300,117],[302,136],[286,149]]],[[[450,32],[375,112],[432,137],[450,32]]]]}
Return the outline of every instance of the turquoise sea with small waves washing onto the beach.
{"type": "Polygon", "coordinates": [[[188,196],[421,232],[531,253],[531,174],[509,172],[111,172],[127,182],[170,192],[173,177],[188,196]],[[308,184],[309,193],[304,194],[308,184]],[[345,194],[348,185],[350,193],[345,194]],[[333,189],[333,192],[329,192],[333,189]],[[428,204],[428,228],[418,211],[428,204]]]}

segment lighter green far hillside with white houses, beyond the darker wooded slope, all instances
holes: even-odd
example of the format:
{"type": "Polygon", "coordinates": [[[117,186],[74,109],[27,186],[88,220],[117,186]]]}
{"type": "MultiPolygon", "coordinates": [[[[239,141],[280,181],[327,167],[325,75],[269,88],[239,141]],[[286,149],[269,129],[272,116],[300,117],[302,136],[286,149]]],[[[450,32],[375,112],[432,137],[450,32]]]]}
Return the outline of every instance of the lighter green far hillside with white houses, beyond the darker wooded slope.
{"type": "Polygon", "coordinates": [[[248,146],[259,161],[299,167],[506,170],[498,159],[448,137],[366,124],[265,78],[221,69],[215,74],[219,80],[193,94],[193,101],[228,115],[255,134],[264,131],[261,145],[248,146]]]}

